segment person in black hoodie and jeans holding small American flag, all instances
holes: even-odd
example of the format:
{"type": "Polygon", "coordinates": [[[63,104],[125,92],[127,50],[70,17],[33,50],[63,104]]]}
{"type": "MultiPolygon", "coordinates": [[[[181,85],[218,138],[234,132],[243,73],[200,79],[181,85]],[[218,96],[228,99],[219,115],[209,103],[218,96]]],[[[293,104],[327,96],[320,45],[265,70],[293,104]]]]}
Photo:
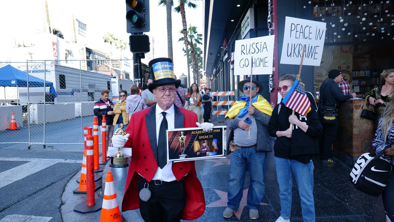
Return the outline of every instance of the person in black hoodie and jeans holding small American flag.
{"type": "MultiPolygon", "coordinates": [[[[284,98],[296,76],[286,74],[279,79],[277,90],[284,98]]],[[[310,93],[308,99],[314,101],[310,93]]],[[[319,137],[323,127],[314,108],[301,116],[282,102],[273,109],[268,125],[269,134],[276,137],[274,144],[274,162],[279,183],[279,199],[281,202],[281,216],[275,222],[290,222],[292,203],[293,179],[296,177],[301,210],[304,222],[315,222],[315,206],[313,198],[313,169],[312,155],[319,154],[319,137]],[[290,123],[293,124],[290,128],[290,123]]]]}

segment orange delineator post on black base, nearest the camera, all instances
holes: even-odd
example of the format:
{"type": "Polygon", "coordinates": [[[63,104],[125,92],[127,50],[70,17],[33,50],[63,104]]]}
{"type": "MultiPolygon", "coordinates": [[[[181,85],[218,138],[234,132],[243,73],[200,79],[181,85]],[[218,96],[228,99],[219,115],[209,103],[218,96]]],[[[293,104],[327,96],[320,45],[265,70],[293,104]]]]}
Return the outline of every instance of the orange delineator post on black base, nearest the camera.
{"type": "Polygon", "coordinates": [[[74,211],[79,213],[96,212],[101,209],[101,205],[102,205],[101,198],[95,199],[94,151],[93,151],[93,136],[91,135],[87,135],[86,137],[86,174],[87,174],[86,202],[84,201],[78,203],[74,207],[74,211]]]}

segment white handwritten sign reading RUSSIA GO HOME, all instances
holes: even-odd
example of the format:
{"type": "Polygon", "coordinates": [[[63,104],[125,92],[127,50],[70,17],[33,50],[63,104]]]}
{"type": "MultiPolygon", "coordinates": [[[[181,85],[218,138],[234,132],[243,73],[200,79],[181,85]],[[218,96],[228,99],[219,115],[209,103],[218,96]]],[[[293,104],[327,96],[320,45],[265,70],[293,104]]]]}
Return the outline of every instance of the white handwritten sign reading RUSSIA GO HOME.
{"type": "Polygon", "coordinates": [[[272,74],[273,44],[275,35],[235,41],[234,75],[272,74]],[[253,56],[253,60],[252,60],[253,56]]]}

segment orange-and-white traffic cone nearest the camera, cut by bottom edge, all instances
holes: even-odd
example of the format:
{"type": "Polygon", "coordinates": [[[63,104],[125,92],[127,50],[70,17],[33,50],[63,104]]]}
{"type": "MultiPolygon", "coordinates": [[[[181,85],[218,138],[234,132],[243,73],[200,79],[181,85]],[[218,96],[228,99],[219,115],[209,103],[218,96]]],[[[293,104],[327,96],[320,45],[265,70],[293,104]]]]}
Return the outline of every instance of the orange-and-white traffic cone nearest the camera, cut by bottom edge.
{"type": "Polygon", "coordinates": [[[122,222],[111,171],[107,172],[105,180],[104,200],[102,201],[100,222],[122,222]]]}

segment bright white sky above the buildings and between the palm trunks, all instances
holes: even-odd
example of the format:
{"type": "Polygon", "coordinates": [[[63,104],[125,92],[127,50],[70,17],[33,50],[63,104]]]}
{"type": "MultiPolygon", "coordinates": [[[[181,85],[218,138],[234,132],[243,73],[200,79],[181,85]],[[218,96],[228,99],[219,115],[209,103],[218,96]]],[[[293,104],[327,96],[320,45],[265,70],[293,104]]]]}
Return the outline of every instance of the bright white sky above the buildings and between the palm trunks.
{"type": "MultiPolygon", "coordinates": [[[[0,3],[0,19],[9,22],[2,22],[2,30],[7,30],[7,35],[0,36],[0,42],[4,44],[7,42],[3,41],[4,39],[9,42],[10,36],[23,33],[24,28],[20,27],[42,23],[42,2],[45,1],[2,1],[0,3]]],[[[103,49],[107,53],[110,51],[109,44],[104,43],[102,39],[107,32],[114,34],[118,39],[125,40],[127,43],[129,41],[128,36],[130,34],[126,32],[126,4],[124,0],[47,0],[47,2],[52,28],[56,28],[56,24],[60,22],[70,23],[70,15],[74,15],[77,19],[87,24],[89,41],[95,43],[94,45],[99,46],[98,48],[103,49]]],[[[158,2],[158,0],[150,0],[151,31],[145,33],[154,39],[154,58],[168,56],[166,11],[165,7],[158,6],[158,2]]],[[[178,1],[175,0],[174,2],[175,6],[178,6],[178,1]]],[[[197,0],[195,4],[198,5],[196,9],[186,8],[186,21],[188,26],[190,24],[192,26],[197,26],[197,32],[203,34],[202,1],[197,0]]],[[[70,26],[68,23],[67,25],[70,26]]],[[[188,69],[186,56],[184,56],[184,52],[182,51],[184,43],[178,42],[178,39],[183,37],[183,35],[179,33],[179,30],[182,29],[180,13],[172,13],[172,25],[174,72],[179,78],[182,73],[187,75],[188,69]]],[[[12,43],[10,42],[10,44],[12,43]]],[[[203,48],[202,46],[200,47],[203,48]]],[[[125,51],[123,51],[123,56],[132,58],[130,49],[128,48],[125,51]]],[[[142,62],[147,64],[149,61],[142,60],[142,62]]],[[[190,73],[192,75],[191,71],[190,73]]]]}

